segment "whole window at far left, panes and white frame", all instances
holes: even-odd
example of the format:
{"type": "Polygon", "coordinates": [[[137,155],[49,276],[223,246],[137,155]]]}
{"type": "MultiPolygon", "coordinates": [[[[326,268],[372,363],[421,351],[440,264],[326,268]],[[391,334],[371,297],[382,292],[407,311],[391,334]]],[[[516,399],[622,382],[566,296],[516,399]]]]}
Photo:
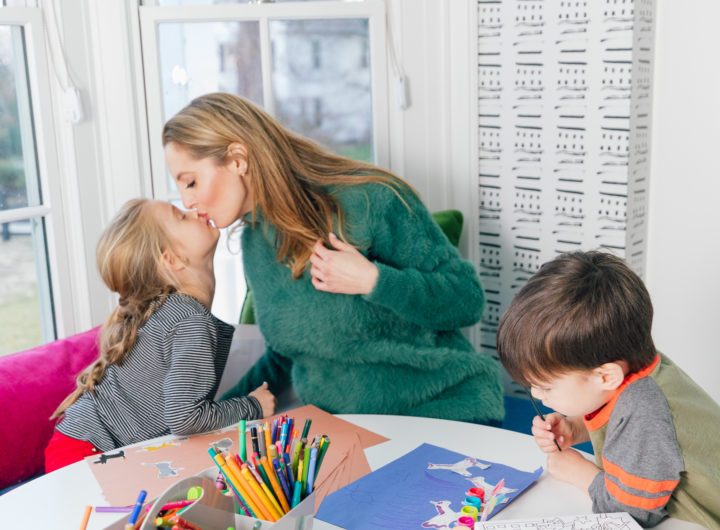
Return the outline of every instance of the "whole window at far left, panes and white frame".
{"type": "MultiPolygon", "coordinates": [[[[54,340],[62,218],[41,15],[0,9],[0,355],[54,340]]],[[[63,269],[64,270],[64,269],[63,269]]]]}

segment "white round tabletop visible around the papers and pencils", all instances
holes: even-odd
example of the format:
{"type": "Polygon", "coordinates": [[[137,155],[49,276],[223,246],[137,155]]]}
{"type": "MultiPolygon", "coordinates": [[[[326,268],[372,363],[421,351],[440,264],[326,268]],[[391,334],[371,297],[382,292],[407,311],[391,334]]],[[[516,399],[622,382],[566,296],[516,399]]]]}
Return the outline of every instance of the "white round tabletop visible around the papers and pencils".
{"type": "MultiPolygon", "coordinates": [[[[342,414],[338,417],[390,438],[365,450],[371,469],[377,469],[430,443],[469,456],[534,471],[545,457],[531,436],[494,427],[407,416],[342,414]]],[[[20,458],[21,455],[18,455],[20,458]]],[[[42,526],[76,530],[86,505],[107,506],[100,486],[85,462],[37,478],[0,497],[2,528],[42,526]]],[[[590,513],[589,497],[574,486],[543,473],[538,481],[500,512],[494,520],[590,513]]],[[[93,513],[89,530],[104,528],[123,514],[93,513]]],[[[337,528],[316,520],[317,530],[337,528]]],[[[657,528],[698,529],[699,525],[667,519],[657,528]]]]}

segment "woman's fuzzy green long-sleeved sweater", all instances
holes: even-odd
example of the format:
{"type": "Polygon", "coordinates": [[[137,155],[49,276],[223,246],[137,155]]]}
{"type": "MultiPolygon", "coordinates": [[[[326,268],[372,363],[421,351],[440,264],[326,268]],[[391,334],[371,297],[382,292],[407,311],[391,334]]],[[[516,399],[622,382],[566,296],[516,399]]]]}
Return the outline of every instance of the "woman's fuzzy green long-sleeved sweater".
{"type": "Polygon", "coordinates": [[[402,414],[499,423],[498,363],[459,328],[482,315],[482,286],[422,202],[387,186],[336,189],[343,234],[379,270],[367,295],[316,290],[278,263],[274,228],[258,215],[242,234],[255,317],[268,352],[223,398],[288,375],[298,397],[331,413],[402,414]],[[409,209],[408,209],[409,206],[409,209]],[[290,369],[291,367],[291,369],[290,369]]]}

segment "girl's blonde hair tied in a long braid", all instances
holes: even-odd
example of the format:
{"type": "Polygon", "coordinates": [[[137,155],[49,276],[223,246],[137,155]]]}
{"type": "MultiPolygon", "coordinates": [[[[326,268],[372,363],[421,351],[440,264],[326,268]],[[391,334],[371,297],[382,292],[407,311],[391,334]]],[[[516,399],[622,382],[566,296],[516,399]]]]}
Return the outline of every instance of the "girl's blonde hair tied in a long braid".
{"type": "Polygon", "coordinates": [[[100,236],[98,270],[108,288],[120,295],[120,302],[100,331],[99,358],[78,375],[77,388],[51,419],[65,412],[83,393],[93,392],[109,365],[122,363],[135,346],[138,329],[176,289],[160,262],[163,252],[171,247],[170,238],[150,205],[147,199],[128,201],[100,236]]]}

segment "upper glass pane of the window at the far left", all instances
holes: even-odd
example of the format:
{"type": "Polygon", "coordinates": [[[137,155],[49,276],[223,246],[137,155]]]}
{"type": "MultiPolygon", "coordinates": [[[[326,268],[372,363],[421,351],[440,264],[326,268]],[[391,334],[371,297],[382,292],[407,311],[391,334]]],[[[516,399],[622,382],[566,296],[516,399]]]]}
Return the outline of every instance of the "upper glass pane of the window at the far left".
{"type": "Polygon", "coordinates": [[[23,28],[0,26],[0,210],[41,200],[23,28]]]}

